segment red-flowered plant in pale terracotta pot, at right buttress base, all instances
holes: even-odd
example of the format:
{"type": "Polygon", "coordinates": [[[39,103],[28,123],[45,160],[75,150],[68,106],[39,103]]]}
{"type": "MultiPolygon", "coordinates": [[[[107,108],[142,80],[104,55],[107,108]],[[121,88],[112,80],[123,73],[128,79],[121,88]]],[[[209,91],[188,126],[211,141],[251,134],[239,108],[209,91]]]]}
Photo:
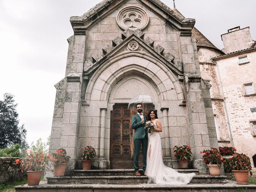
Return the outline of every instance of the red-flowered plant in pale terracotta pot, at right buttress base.
{"type": "Polygon", "coordinates": [[[206,163],[210,174],[213,176],[220,176],[221,164],[222,162],[226,162],[226,160],[223,160],[219,150],[217,148],[211,148],[210,150],[204,150],[200,153],[204,153],[204,162],[206,163]]]}

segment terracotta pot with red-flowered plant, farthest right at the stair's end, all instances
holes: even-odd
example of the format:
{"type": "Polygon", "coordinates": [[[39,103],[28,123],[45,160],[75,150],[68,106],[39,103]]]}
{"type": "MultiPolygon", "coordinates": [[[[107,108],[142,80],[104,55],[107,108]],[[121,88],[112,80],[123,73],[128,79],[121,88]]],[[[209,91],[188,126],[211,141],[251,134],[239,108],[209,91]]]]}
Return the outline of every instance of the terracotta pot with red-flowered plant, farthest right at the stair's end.
{"type": "Polygon", "coordinates": [[[248,185],[249,174],[252,175],[252,164],[250,158],[246,154],[235,153],[229,160],[232,167],[232,172],[237,184],[248,185]]]}

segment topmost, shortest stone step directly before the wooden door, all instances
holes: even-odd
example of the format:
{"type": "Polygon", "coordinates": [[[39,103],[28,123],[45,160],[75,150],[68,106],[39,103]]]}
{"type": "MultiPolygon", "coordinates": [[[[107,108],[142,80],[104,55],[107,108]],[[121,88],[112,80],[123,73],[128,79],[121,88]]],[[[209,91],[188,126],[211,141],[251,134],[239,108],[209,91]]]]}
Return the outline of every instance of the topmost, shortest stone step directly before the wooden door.
{"type": "MultiPolygon", "coordinates": [[[[198,169],[176,169],[179,173],[192,173],[198,175],[198,169]]],[[[142,170],[140,170],[142,173],[142,170]]],[[[134,176],[134,169],[109,170],[74,170],[74,176],[134,176]]]]}

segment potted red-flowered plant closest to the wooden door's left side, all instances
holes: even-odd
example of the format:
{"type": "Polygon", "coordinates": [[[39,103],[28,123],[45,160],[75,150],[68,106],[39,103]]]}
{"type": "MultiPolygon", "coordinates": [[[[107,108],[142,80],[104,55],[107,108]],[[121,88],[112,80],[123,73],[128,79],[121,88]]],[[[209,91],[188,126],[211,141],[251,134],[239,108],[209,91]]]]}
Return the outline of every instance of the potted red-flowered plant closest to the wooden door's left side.
{"type": "Polygon", "coordinates": [[[90,170],[92,159],[96,156],[95,149],[92,146],[86,146],[82,152],[81,160],[83,170],[90,170]]]}

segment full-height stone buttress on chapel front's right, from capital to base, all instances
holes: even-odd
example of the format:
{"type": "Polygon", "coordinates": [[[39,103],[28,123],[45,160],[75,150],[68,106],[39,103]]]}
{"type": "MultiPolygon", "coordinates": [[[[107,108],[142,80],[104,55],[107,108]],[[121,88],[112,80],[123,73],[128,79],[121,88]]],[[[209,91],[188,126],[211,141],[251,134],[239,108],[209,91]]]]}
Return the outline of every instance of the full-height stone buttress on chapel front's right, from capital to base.
{"type": "Polygon", "coordinates": [[[200,151],[210,148],[204,100],[202,98],[201,75],[198,70],[198,55],[195,39],[191,32],[179,32],[180,60],[183,62],[184,88],[186,98],[187,122],[190,130],[190,146],[193,167],[200,173],[207,173],[200,151]]]}

